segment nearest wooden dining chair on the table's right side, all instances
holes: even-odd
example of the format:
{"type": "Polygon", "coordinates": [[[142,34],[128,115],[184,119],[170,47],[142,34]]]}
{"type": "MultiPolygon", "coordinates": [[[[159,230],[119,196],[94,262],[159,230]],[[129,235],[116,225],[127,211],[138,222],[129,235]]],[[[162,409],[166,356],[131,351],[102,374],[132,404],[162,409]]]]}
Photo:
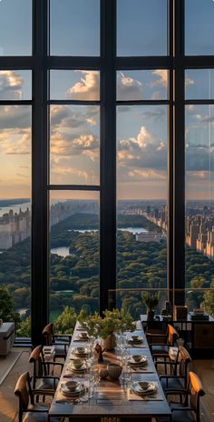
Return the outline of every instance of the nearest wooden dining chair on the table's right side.
{"type": "MultiPolygon", "coordinates": [[[[171,422],[200,422],[199,400],[205,395],[199,377],[190,372],[188,378],[188,388],[178,390],[171,390],[166,392],[166,396],[179,396],[179,403],[172,403],[170,401],[171,422]]],[[[167,422],[167,418],[157,418],[160,422],[167,422]]]]}

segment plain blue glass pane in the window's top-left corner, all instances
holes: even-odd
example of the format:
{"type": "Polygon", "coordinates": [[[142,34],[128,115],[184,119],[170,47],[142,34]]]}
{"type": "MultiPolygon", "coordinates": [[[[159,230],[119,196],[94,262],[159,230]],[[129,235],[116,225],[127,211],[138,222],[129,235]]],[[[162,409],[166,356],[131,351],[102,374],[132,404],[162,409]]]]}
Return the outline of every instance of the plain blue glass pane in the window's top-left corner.
{"type": "Polygon", "coordinates": [[[31,0],[1,0],[0,55],[32,55],[31,0]]]}

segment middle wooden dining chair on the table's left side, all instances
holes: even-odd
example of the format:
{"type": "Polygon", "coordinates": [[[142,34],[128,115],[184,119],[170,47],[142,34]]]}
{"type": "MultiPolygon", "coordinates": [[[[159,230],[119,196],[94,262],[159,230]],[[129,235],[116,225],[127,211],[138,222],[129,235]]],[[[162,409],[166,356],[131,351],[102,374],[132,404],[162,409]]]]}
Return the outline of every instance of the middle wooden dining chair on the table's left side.
{"type": "Polygon", "coordinates": [[[39,390],[45,390],[46,395],[48,392],[54,393],[59,376],[63,370],[63,363],[45,361],[43,354],[43,346],[37,346],[32,351],[29,362],[33,363],[33,388],[39,390]],[[58,375],[53,375],[54,370],[57,370],[58,375]],[[52,375],[50,375],[52,374],[52,375]]]}

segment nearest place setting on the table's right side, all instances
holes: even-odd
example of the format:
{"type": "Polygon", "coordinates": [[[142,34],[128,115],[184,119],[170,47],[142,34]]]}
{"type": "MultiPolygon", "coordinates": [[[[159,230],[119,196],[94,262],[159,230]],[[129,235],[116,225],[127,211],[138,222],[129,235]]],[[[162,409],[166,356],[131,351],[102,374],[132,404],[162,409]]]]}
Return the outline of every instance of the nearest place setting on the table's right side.
{"type": "Polygon", "coordinates": [[[140,401],[163,400],[157,381],[132,381],[127,388],[127,398],[140,401]]]}

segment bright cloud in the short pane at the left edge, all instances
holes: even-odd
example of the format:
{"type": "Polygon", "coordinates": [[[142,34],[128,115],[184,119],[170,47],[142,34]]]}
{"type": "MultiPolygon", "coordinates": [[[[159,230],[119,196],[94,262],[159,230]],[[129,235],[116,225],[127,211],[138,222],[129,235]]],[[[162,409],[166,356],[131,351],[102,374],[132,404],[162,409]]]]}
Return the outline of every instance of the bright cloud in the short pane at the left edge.
{"type": "Polygon", "coordinates": [[[0,70],[0,98],[22,99],[24,80],[14,70],[0,70]]]}

